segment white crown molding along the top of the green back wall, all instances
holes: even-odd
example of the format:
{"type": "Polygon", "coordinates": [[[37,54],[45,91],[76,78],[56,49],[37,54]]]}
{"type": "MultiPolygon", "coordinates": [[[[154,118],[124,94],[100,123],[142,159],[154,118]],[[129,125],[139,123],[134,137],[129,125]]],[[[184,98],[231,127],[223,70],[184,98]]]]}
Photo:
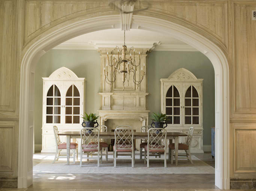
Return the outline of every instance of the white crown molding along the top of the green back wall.
{"type": "MultiPolygon", "coordinates": [[[[122,47],[121,43],[61,43],[52,48],[55,50],[97,50],[99,48],[115,48],[116,46],[122,47]]],[[[134,48],[149,48],[150,51],[199,51],[192,46],[186,44],[161,44],[161,42],[142,42],[142,43],[129,43],[127,47],[134,48]]]]}

